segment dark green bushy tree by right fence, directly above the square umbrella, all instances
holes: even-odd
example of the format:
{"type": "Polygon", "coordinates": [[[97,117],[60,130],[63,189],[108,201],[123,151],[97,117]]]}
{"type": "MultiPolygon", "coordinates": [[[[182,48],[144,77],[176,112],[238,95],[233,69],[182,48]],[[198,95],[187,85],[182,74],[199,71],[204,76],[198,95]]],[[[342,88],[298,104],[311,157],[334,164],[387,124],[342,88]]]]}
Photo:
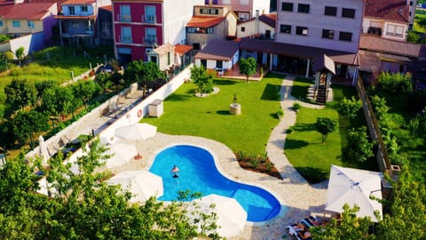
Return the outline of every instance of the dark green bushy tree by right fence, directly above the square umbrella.
{"type": "Polygon", "coordinates": [[[351,129],[348,133],[348,164],[351,161],[364,163],[368,157],[375,156],[373,153],[374,143],[368,140],[367,127],[351,129]]]}

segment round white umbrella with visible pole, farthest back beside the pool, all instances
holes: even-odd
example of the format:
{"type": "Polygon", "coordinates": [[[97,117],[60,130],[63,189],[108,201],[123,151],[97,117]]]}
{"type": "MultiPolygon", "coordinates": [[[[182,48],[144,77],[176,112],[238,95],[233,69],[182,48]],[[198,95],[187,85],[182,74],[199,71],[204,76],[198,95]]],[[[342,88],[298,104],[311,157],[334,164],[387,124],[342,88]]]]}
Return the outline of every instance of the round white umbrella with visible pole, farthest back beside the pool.
{"type": "MultiPolygon", "coordinates": [[[[138,148],[140,140],[147,140],[155,136],[157,127],[151,124],[130,124],[115,129],[115,136],[122,140],[134,140],[138,148]]],[[[138,150],[138,155],[135,158],[141,158],[138,150]]]]}

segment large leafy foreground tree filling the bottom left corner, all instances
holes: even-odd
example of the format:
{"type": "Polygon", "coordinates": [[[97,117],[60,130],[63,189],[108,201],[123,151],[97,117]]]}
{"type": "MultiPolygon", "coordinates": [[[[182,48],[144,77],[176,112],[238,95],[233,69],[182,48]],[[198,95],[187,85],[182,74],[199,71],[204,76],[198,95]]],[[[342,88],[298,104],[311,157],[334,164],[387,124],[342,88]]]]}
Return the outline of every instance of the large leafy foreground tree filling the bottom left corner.
{"type": "MultiPolygon", "coordinates": [[[[145,204],[129,204],[131,194],[109,186],[103,165],[106,150],[99,140],[83,148],[79,174],[71,172],[60,154],[44,170],[51,196],[37,194],[36,164],[22,154],[0,168],[0,236],[2,239],[192,239],[203,236],[185,214],[184,202],[164,205],[151,197],[145,204]],[[35,230],[36,229],[36,230],[35,230]]],[[[209,216],[203,215],[202,217],[209,216]]],[[[216,229],[215,222],[201,228],[216,229]]],[[[218,239],[217,235],[212,235],[218,239]]]]}

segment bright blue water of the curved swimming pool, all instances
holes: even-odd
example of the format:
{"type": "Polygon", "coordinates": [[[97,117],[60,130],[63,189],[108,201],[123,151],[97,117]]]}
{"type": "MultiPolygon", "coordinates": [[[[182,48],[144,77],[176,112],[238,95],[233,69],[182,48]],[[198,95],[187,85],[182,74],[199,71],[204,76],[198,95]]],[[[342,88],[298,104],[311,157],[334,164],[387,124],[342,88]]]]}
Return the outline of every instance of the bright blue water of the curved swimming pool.
{"type": "Polygon", "coordinates": [[[162,176],[164,195],[161,201],[177,200],[177,191],[189,189],[202,196],[217,194],[235,198],[247,212],[248,221],[270,220],[280,212],[280,202],[271,193],[247,184],[228,180],[220,172],[209,151],[186,145],[162,150],[155,156],[150,172],[162,176]],[[179,177],[173,178],[170,170],[179,168],[179,177]]]}

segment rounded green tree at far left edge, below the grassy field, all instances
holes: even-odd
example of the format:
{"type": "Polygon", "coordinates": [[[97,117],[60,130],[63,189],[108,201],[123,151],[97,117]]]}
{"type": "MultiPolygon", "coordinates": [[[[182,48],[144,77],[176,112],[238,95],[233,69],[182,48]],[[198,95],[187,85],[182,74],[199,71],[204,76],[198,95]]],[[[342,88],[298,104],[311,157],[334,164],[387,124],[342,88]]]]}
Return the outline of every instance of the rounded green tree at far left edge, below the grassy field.
{"type": "Polygon", "coordinates": [[[34,106],[37,100],[37,91],[35,84],[27,79],[12,79],[11,84],[4,87],[6,93],[6,103],[14,107],[23,109],[34,106]]]}

